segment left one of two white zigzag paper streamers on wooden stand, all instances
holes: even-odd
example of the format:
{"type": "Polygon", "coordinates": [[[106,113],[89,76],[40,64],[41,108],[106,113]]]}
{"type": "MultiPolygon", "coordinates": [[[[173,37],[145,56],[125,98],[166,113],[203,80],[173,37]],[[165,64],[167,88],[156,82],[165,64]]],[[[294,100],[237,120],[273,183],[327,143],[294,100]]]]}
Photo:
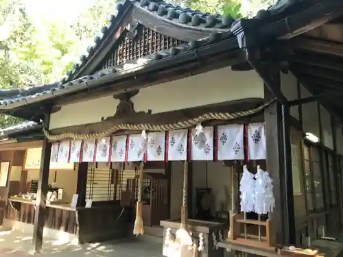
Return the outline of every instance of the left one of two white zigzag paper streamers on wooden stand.
{"type": "Polygon", "coordinates": [[[241,212],[253,212],[255,205],[255,180],[254,174],[243,167],[243,175],[239,186],[241,192],[241,212]]]}

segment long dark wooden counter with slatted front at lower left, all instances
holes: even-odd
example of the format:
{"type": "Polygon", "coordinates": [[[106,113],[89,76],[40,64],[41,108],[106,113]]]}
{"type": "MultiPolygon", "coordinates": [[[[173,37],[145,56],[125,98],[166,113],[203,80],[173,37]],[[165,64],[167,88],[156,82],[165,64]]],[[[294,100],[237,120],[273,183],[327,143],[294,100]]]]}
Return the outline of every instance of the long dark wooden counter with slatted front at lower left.
{"type": "MultiPolygon", "coordinates": [[[[130,232],[130,208],[108,205],[71,208],[70,204],[63,203],[47,204],[46,207],[44,228],[49,236],[58,237],[64,232],[69,238],[77,238],[79,243],[88,243],[122,238],[130,232]]],[[[3,228],[33,231],[35,210],[36,201],[10,197],[3,228]]]]}

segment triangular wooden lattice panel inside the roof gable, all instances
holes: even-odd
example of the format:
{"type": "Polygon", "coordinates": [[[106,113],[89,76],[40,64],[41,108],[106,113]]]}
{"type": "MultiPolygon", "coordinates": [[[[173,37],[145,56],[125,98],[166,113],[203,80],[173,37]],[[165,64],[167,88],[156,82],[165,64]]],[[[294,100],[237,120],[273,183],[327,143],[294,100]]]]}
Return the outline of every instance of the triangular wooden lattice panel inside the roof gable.
{"type": "Polygon", "coordinates": [[[113,52],[108,60],[104,62],[101,70],[110,69],[128,60],[135,60],[180,44],[182,44],[181,40],[170,38],[143,26],[143,32],[139,38],[132,40],[126,36],[119,47],[116,50],[112,50],[113,52]]]}

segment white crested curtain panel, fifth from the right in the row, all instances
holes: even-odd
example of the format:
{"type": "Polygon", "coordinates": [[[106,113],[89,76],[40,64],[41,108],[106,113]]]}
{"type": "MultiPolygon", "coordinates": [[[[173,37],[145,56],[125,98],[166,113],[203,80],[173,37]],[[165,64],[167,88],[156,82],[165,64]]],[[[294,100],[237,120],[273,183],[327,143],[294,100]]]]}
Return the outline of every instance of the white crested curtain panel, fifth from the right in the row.
{"type": "Polygon", "coordinates": [[[147,161],[165,160],[165,132],[147,134],[147,161]]]}

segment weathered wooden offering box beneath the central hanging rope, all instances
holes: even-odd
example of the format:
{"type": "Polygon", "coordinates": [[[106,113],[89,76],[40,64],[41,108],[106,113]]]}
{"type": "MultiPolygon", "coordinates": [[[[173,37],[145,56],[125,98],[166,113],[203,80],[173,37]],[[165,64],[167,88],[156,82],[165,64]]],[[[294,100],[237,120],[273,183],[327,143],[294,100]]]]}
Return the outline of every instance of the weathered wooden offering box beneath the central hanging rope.
{"type": "Polygon", "coordinates": [[[199,257],[224,257],[224,250],[218,247],[217,243],[226,238],[227,224],[225,223],[189,219],[188,229],[196,246],[193,249],[180,247],[177,250],[175,250],[175,233],[180,228],[180,221],[161,221],[161,226],[163,226],[164,256],[188,257],[193,256],[193,251],[197,251],[199,257]],[[204,249],[198,251],[201,240],[204,243],[204,249]],[[171,251],[173,251],[172,254],[171,251]]]}

